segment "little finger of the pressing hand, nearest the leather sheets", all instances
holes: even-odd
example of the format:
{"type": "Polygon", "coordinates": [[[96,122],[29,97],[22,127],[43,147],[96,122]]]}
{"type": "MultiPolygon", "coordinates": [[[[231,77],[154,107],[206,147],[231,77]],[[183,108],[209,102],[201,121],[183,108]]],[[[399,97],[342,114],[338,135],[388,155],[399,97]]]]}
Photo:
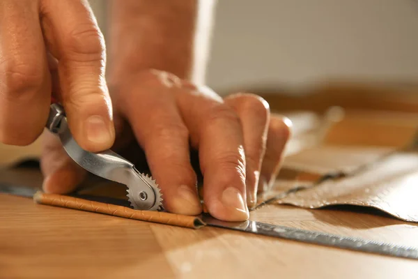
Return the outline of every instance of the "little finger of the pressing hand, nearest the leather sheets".
{"type": "Polygon", "coordinates": [[[258,193],[269,190],[281,167],[283,152],[291,137],[292,122],[290,119],[272,114],[268,126],[268,137],[265,156],[261,166],[258,193]]]}

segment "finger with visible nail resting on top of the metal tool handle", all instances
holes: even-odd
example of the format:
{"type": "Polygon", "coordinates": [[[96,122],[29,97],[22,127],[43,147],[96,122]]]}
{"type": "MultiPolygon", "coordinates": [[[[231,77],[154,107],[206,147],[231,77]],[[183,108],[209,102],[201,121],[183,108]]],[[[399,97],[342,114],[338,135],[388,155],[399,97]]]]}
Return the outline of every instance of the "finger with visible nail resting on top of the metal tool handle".
{"type": "Polygon", "coordinates": [[[86,0],[42,0],[42,27],[59,61],[61,96],[75,140],[88,151],[114,143],[111,100],[104,80],[104,40],[86,0]]]}

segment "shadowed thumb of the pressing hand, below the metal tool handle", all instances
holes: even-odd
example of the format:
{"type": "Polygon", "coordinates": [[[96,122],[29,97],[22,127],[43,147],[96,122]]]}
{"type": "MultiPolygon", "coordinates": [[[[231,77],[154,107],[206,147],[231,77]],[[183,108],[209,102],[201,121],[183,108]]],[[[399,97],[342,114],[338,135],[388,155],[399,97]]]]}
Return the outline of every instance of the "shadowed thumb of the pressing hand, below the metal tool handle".
{"type": "Polygon", "coordinates": [[[44,176],[45,193],[67,194],[81,183],[86,171],[67,155],[59,138],[45,131],[40,167],[44,176]]]}

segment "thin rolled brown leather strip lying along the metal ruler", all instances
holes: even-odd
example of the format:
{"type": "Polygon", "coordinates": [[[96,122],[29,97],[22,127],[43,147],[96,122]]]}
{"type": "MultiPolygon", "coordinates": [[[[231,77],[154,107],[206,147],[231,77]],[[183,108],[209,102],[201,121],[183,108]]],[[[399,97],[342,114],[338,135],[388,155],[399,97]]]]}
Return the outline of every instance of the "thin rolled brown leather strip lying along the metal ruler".
{"type": "Polygon", "coordinates": [[[130,209],[125,206],[118,206],[102,202],[93,202],[87,199],[79,199],[77,197],[70,197],[65,195],[37,192],[35,195],[33,195],[33,199],[38,204],[59,206],[68,209],[78,209],[82,211],[91,211],[111,216],[118,216],[153,223],[161,223],[178,227],[189,227],[192,229],[199,229],[199,227],[203,227],[205,225],[205,223],[203,223],[203,221],[196,216],[183,216],[158,211],[140,211],[130,209]]]}

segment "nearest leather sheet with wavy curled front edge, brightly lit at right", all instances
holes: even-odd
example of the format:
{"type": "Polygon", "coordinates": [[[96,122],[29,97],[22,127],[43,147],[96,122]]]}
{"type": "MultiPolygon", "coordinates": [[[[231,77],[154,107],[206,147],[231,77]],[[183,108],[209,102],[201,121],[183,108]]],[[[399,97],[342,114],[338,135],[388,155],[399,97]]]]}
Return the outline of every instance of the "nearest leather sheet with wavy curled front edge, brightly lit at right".
{"type": "Polygon", "coordinates": [[[398,152],[355,176],[288,190],[270,203],[310,209],[330,205],[367,206],[407,222],[418,222],[418,154],[398,152]]]}

